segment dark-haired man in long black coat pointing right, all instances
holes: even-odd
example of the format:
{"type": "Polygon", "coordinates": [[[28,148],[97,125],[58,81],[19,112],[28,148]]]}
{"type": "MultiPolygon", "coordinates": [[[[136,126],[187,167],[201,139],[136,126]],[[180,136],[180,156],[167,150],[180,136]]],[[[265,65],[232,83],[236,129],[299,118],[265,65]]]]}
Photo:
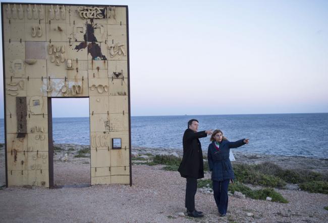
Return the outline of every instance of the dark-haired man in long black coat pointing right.
{"type": "Polygon", "coordinates": [[[198,121],[191,119],[188,121],[188,128],[183,134],[183,158],[178,171],[181,177],[187,179],[186,183],[186,208],[188,216],[202,217],[201,211],[195,209],[195,194],[197,191],[197,179],[204,177],[203,152],[198,138],[211,134],[211,130],[198,131],[198,121]]]}

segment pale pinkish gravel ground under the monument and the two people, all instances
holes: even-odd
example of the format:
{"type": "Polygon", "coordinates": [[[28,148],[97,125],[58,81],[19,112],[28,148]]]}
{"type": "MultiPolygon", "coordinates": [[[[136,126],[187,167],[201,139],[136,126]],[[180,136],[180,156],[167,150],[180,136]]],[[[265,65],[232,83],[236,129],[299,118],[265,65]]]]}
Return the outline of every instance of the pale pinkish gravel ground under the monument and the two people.
{"type": "MultiPolygon", "coordinates": [[[[72,158],[71,154],[68,162],[62,162],[62,156],[58,153],[54,159],[54,183],[90,184],[90,158],[72,158]]],[[[322,161],[326,164],[326,160],[318,162],[322,161]]],[[[0,222],[326,222],[328,219],[328,211],[324,209],[328,206],[328,195],[298,190],[277,190],[290,201],[288,204],[230,196],[226,217],[218,216],[212,195],[197,192],[196,208],[205,216],[180,217],[178,213],[186,211],[185,179],[178,172],[161,170],[162,167],[133,165],[132,187],[4,188],[0,190],[0,222]],[[247,212],[254,215],[248,217],[247,212]]],[[[0,151],[0,169],[3,179],[4,150],[0,151]]]]}

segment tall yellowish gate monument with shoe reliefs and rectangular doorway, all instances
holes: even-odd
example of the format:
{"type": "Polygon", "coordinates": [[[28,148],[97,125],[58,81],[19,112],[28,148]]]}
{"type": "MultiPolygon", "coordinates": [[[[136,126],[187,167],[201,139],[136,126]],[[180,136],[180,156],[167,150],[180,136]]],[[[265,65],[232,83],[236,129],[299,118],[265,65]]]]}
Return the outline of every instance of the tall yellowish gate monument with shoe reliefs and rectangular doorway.
{"type": "Polygon", "coordinates": [[[53,184],[54,97],[89,97],[91,184],[131,184],[127,7],[9,3],[2,13],[7,186],[53,184]]]}

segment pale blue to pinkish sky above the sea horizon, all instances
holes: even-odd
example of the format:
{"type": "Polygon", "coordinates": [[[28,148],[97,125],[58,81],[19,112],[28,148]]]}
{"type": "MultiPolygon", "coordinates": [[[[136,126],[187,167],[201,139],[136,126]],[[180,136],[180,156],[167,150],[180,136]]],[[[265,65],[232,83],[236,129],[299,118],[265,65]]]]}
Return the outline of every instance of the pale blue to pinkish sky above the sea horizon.
{"type": "Polygon", "coordinates": [[[328,1],[56,2],[129,6],[133,116],[328,112],[328,1]]]}

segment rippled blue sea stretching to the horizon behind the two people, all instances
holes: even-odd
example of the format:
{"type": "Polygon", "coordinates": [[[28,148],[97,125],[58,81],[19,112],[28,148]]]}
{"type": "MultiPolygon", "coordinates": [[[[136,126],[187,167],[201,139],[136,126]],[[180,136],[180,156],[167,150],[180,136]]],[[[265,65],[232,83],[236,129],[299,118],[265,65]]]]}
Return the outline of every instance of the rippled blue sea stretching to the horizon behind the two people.
{"type": "MultiPolygon", "coordinates": [[[[328,158],[328,113],[135,116],[131,117],[132,145],[182,148],[182,135],[191,118],[199,130],[220,128],[230,140],[250,138],[240,147],[249,153],[328,158]]],[[[4,119],[0,119],[0,142],[4,142],[4,119]]],[[[89,118],[53,118],[57,143],[89,144],[89,118]]],[[[209,137],[201,139],[207,149],[209,137]]]]}

